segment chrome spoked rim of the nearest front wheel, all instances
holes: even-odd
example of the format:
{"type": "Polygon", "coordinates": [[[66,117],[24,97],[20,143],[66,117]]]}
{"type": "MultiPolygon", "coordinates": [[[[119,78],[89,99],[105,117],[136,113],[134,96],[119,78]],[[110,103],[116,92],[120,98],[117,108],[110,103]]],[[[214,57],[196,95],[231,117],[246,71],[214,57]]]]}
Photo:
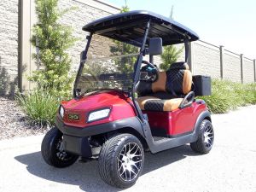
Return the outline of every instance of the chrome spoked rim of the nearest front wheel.
{"type": "Polygon", "coordinates": [[[118,157],[118,172],[125,182],[135,179],[143,166],[142,149],[137,143],[127,143],[118,157]]]}

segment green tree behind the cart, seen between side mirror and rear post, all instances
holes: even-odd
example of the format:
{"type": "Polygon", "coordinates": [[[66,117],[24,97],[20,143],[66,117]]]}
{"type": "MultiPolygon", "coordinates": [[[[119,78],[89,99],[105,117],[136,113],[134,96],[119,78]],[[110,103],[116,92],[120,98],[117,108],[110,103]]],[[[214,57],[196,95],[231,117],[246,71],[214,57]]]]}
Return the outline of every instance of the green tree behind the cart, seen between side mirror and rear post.
{"type": "MultiPolygon", "coordinates": [[[[173,20],[173,6],[171,10],[170,19],[173,20]]],[[[161,55],[162,63],[160,64],[160,69],[167,71],[172,63],[176,62],[179,55],[183,52],[183,48],[177,49],[174,45],[166,45],[164,47],[164,52],[161,55]]]]}

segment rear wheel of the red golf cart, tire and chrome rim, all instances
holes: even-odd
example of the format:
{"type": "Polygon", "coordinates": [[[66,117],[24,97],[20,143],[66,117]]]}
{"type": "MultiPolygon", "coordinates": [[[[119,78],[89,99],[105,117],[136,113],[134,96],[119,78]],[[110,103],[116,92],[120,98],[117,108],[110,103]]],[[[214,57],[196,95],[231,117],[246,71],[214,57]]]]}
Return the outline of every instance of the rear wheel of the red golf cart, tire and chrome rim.
{"type": "Polygon", "coordinates": [[[214,142],[214,131],[213,131],[212,123],[211,121],[204,119],[201,122],[198,139],[196,142],[190,143],[190,147],[197,153],[208,154],[212,149],[213,142],[214,142]]]}

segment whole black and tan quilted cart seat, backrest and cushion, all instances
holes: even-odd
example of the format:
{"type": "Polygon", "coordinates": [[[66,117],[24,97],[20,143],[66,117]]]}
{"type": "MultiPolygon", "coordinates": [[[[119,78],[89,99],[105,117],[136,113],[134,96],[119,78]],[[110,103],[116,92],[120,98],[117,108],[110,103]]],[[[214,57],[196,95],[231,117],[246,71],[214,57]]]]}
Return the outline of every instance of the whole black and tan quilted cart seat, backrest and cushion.
{"type": "Polygon", "coordinates": [[[137,102],[142,110],[173,111],[180,106],[183,96],[191,90],[191,85],[192,74],[188,64],[174,63],[167,72],[160,72],[158,80],[154,83],[139,85],[138,92],[142,96],[137,98],[137,102]],[[169,98],[163,99],[163,93],[170,94],[169,98]],[[174,93],[178,96],[173,96],[174,93]]]}

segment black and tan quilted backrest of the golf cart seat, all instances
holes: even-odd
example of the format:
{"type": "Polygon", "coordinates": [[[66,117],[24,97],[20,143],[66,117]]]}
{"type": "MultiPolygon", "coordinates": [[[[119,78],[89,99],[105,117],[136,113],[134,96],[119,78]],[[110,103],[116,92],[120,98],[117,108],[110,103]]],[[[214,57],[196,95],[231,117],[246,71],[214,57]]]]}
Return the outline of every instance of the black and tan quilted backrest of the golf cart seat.
{"type": "Polygon", "coordinates": [[[172,96],[188,94],[192,85],[192,73],[185,62],[172,63],[166,72],[159,72],[159,77],[154,83],[141,81],[137,92],[140,96],[152,93],[166,92],[172,96]]]}

